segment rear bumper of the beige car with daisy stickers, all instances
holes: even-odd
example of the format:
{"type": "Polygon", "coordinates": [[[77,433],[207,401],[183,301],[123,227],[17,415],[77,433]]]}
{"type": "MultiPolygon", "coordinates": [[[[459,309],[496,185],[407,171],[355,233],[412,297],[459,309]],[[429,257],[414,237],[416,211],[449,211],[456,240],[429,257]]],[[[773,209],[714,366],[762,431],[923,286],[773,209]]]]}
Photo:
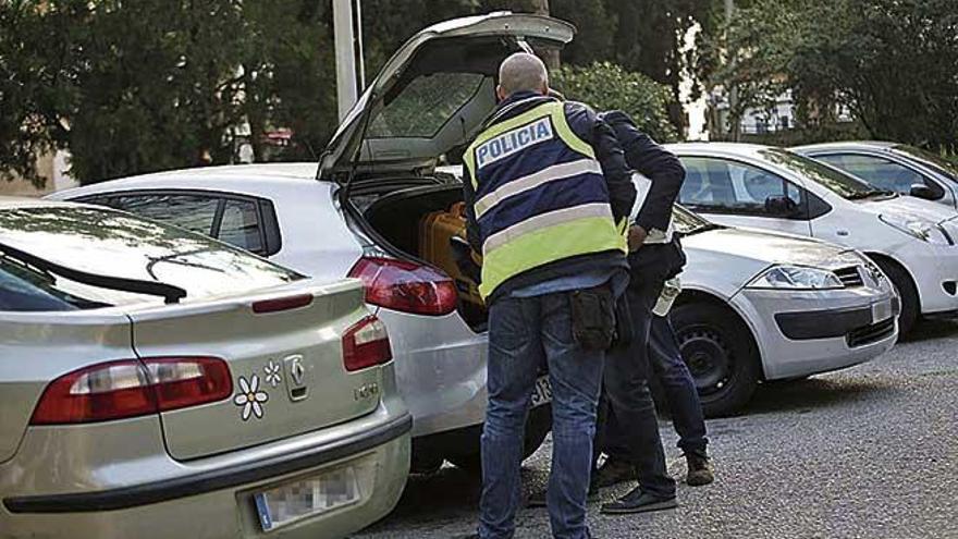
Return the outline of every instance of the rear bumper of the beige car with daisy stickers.
{"type": "MultiPolygon", "coordinates": [[[[2,491],[9,495],[0,506],[0,529],[4,537],[260,537],[256,492],[351,466],[361,492],[357,502],[269,532],[271,537],[341,537],[389,513],[408,475],[412,417],[400,406],[381,406],[371,416],[360,418],[370,427],[358,432],[349,429],[344,436],[329,437],[329,430],[336,428],[324,429],[322,434],[297,437],[322,436],[321,443],[298,440],[306,443],[278,453],[253,448],[251,458],[212,457],[223,465],[200,464],[194,473],[153,481],[69,493],[27,493],[32,481],[3,481],[2,491]]],[[[30,445],[28,438],[25,443],[30,445]]],[[[16,458],[8,464],[14,463],[16,458]]],[[[114,471],[120,475],[130,464],[116,463],[114,471]]]]}

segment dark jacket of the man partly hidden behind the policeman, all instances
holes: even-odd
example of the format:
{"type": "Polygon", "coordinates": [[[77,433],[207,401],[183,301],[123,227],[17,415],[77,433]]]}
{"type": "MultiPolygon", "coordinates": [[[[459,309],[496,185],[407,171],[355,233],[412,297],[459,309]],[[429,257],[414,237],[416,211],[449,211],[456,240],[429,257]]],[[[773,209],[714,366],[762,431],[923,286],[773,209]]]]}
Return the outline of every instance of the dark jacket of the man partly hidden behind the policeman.
{"type": "Polygon", "coordinates": [[[612,110],[599,114],[599,118],[615,131],[628,166],[652,181],[636,224],[646,231],[664,231],[672,219],[672,206],[678,199],[678,192],[685,181],[685,168],[675,155],[639,131],[625,112],[612,110]]]}

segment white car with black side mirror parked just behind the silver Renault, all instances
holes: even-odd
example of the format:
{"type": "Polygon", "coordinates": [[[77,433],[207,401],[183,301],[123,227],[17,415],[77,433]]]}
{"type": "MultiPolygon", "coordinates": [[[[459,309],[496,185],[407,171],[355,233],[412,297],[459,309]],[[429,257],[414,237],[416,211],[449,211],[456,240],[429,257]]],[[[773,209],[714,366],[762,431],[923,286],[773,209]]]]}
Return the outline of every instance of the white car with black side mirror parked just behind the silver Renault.
{"type": "Polygon", "coordinates": [[[679,199],[715,222],[811,236],[865,253],[901,298],[899,331],[958,309],[958,213],[876,189],[782,148],[679,144],[679,199]]]}

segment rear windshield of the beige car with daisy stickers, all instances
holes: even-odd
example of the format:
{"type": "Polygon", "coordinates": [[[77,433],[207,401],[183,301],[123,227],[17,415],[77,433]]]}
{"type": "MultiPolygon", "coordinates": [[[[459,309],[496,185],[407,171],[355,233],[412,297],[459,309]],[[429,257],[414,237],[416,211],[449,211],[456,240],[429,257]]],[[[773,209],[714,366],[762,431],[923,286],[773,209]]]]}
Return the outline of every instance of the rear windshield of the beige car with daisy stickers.
{"type": "MultiPolygon", "coordinates": [[[[303,278],[207,236],[107,208],[2,209],[0,244],[87,273],[172,284],[186,291],[184,302],[303,278]]],[[[0,295],[4,296],[5,303],[0,303],[3,310],[162,302],[155,296],[72,282],[12,255],[0,255],[0,295]]]]}

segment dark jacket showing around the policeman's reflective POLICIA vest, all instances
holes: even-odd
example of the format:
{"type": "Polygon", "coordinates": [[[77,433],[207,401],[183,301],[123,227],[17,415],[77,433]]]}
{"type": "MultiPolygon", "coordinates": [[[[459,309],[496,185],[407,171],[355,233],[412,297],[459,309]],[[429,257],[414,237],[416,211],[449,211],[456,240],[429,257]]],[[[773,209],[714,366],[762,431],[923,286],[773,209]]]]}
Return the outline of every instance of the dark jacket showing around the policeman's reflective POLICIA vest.
{"type": "MultiPolygon", "coordinates": [[[[490,118],[494,118],[495,122],[501,122],[509,118],[516,117],[530,109],[542,105],[543,101],[553,99],[542,97],[541,99],[529,99],[536,97],[532,91],[519,91],[513,94],[507,99],[499,103],[490,118]],[[513,103],[528,99],[528,102],[512,107],[513,103]],[[504,110],[506,109],[506,110],[504,110]]],[[[615,137],[615,132],[605,122],[603,122],[595,112],[587,106],[567,101],[565,105],[565,115],[573,132],[589,144],[595,151],[595,159],[602,168],[602,174],[605,177],[609,187],[610,205],[612,206],[612,215],[616,222],[628,217],[632,205],[636,200],[636,188],[631,181],[631,172],[626,164],[625,154],[615,137]]],[[[482,253],[482,245],[479,237],[479,223],[472,208],[476,201],[476,192],[472,188],[472,179],[469,170],[463,167],[463,194],[466,203],[466,233],[469,244],[477,253],[482,253]]],[[[525,273],[516,275],[502,285],[498,286],[488,303],[492,303],[495,298],[529,284],[548,281],[551,279],[578,274],[590,271],[603,266],[626,267],[625,257],[617,253],[602,253],[598,255],[582,255],[555,262],[540,266],[525,273]]]]}

